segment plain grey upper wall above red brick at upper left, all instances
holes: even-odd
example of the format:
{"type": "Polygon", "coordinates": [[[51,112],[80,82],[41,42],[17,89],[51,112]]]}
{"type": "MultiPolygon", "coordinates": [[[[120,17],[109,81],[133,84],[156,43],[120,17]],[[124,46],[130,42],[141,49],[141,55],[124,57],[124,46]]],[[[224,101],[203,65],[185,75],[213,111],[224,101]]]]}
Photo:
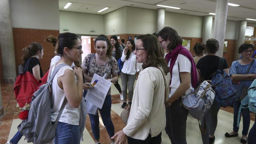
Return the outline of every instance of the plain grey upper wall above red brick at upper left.
{"type": "Polygon", "coordinates": [[[59,30],[59,2],[53,0],[11,0],[15,28],[59,30]]]}

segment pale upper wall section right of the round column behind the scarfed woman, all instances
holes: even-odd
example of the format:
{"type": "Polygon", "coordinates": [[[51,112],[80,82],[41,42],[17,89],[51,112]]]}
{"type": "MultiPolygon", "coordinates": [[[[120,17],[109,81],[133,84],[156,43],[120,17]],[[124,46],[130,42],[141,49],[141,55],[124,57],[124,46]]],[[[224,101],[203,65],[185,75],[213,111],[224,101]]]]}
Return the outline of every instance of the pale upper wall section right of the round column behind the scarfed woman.
{"type": "Polygon", "coordinates": [[[165,12],[164,26],[175,29],[179,36],[202,38],[203,17],[165,12]]]}

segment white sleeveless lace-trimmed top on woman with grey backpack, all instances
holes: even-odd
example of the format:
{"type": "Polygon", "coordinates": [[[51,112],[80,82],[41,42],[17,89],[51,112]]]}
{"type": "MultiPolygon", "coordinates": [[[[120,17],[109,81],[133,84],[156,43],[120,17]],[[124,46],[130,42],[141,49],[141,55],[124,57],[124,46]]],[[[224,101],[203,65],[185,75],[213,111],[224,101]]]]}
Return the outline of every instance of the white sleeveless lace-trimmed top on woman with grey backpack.
{"type": "MultiPolygon", "coordinates": [[[[51,74],[54,70],[55,65],[51,70],[51,74]]],[[[64,90],[59,87],[57,79],[58,77],[63,76],[65,73],[65,70],[67,69],[74,71],[70,66],[62,67],[60,70],[58,70],[57,74],[54,76],[54,79],[51,84],[51,91],[52,91],[51,105],[53,106],[51,109],[51,121],[53,122],[56,120],[58,113],[61,109],[61,106],[64,102],[64,99],[66,97],[64,90]]],[[[77,82],[76,76],[74,77],[74,79],[77,82]]],[[[70,125],[79,125],[79,115],[80,115],[80,106],[78,108],[72,108],[70,104],[67,102],[61,114],[61,117],[59,119],[59,122],[68,123],[70,125]]]]}

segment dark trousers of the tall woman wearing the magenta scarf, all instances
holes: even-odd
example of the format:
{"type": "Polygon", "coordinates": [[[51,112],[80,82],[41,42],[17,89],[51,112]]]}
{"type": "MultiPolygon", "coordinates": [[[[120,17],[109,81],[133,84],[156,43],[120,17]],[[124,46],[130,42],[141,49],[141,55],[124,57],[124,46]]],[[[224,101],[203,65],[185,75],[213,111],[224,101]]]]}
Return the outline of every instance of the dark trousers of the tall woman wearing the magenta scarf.
{"type": "Polygon", "coordinates": [[[186,121],[188,111],[182,106],[181,98],[172,103],[169,109],[170,129],[166,131],[171,136],[172,144],[186,144],[186,121]]]}

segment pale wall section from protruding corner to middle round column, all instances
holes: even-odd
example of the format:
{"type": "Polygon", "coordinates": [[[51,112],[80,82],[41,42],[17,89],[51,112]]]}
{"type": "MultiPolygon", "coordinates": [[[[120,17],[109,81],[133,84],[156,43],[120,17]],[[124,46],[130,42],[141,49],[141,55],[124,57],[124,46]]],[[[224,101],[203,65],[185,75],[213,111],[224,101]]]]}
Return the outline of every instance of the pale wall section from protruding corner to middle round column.
{"type": "Polygon", "coordinates": [[[127,6],[126,33],[155,33],[157,25],[157,10],[127,6]]]}

